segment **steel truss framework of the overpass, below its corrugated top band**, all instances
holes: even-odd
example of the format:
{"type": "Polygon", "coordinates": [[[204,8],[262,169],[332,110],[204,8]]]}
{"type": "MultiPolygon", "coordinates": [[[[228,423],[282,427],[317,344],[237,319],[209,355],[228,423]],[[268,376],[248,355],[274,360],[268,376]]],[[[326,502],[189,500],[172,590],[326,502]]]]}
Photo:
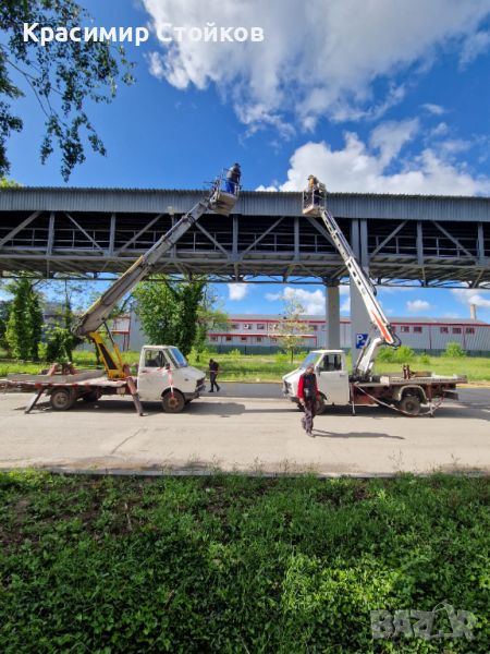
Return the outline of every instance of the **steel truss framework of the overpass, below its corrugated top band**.
{"type": "MultiPolygon", "coordinates": [[[[148,249],[148,239],[142,237],[162,217],[169,222],[173,219],[171,213],[138,214],[130,220],[126,214],[117,213],[79,211],[75,218],[66,211],[36,210],[28,215],[2,211],[0,275],[15,275],[20,270],[45,277],[57,272],[75,276],[122,272],[148,249]]],[[[357,234],[358,251],[375,279],[396,284],[397,279],[404,278],[425,287],[490,286],[488,232],[481,222],[467,222],[474,244],[466,238],[464,243],[461,241],[457,222],[406,219],[390,226],[388,233],[387,223],[380,220],[360,220],[356,225],[358,229],[353,233],[357,234]],[[404,233],[404,228],[414,223],[416,229],[404,233]],[[453,244],[453,254],[446,245],[444,255],[438,254],[439,245],[433,244],[436,232],[453,244]],[[393,240],[396,247],[387,251],[393,240]]],[[[158,235],[155,233],[152,239],[158,235]]],[[[258,283],[260,277],[267,276],[278,283],[321,283],[324,279],[345,278],[345,267],[327,231],[315,219],[298,216],[208,215],[161,261],[159,270],[177,276],[211,275],[226,282],[254,279],[258,283]],[[199,233],[206,237],[206,242],[196,241],[199,233]],[[273,239],[264,246],[267,235],[273,239]],[[260,243],[262,246],[258,249],[260,243]]]]}

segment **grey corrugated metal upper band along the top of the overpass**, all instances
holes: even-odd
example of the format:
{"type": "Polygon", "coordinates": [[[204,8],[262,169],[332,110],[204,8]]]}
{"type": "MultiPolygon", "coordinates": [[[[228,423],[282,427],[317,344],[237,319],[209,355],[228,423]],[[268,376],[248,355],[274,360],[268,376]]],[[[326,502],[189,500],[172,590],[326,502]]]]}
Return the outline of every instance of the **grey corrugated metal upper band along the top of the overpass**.
{"type": "MultiPolygon", "coordinates": [[[[188,210],[203,191],[180,189],[36,187],[0,190],[0,211],[94,211],[175,214],[188,210]]],[[[244,191],[235,206],[243,216],[299,216],[301,193],[244,191]]],[[[477,221],[490,223],[490,197],[329,193],[328,204],[342,218],[477,221]]]]}

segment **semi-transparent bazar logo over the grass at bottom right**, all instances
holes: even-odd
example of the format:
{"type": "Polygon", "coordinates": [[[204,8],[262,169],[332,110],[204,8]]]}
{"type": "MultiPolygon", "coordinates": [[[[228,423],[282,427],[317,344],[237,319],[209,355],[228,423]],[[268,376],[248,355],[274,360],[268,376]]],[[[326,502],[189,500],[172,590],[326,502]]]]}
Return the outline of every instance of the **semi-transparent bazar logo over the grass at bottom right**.
{"type": "Polygon", "coordinates": [[[473,640],[476,616],[469,610],[455,610],[441,602],[432,610],[371,610],[371,633],[375,639],[422,638],[425,640],[466,637],[473,640]],[[414,621],[415,620],[415,621],[414,621]]]}

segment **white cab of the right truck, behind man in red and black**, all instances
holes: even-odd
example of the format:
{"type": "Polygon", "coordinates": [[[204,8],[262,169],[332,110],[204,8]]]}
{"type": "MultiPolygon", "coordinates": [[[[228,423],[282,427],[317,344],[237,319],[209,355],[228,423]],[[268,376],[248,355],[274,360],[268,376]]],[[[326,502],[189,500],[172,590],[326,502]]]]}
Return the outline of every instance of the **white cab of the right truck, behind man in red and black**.
{"type": "Polygon", "coordinates": [[[328,404],[348,404],[348,372],[343,350],[313,350],[309,352],[298,368],[283,376],[285,397],[296,404],[299,403],[297,385],[308,365],[314,366],[321,396],[318,413],[321,413],[328,404]]]}

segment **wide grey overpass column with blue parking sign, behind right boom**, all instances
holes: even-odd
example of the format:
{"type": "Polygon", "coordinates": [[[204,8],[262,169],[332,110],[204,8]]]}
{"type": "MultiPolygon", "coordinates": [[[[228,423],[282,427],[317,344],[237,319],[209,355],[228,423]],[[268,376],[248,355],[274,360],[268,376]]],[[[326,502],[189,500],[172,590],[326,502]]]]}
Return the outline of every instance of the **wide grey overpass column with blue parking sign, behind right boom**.
{"type": "MultiPolygon", "coordinates": [[[[363,221],[365,222],[365,221],[363,221]]],[[[366,225],[362,226],[359,230],[359,221],[352,221],[351,232],[351,244],[357,261],[360,262],[364,270],[367,272],[367,228],[366,225]],[[360,242],[360,241],[365,242],[360,242]]],[[[360,352],[362,341],[364,335],[369,334],[371,330],[371,322],[366,311],[363,298],[357,290],[356,284],[351,279],[351,349],[352,349],[352,362],[353,365],[357,361],[357,356],[360,352]]]]}

